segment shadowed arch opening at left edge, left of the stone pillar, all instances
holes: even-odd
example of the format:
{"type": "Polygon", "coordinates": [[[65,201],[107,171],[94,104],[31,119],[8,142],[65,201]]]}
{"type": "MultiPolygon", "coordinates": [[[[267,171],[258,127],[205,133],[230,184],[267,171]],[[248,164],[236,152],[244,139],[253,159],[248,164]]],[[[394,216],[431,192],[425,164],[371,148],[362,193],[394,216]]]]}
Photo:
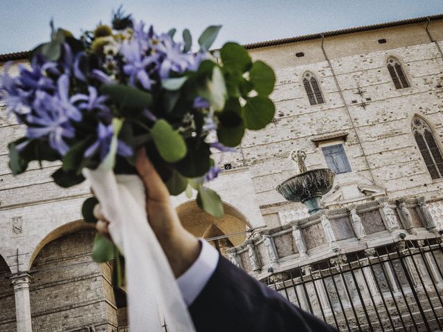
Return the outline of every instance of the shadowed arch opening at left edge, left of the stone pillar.
{"type": "Polygon", "coordinates": [[[0,331],[16,331],[15,295],[10,276],[11,270],[0,255],[0,331]]]}

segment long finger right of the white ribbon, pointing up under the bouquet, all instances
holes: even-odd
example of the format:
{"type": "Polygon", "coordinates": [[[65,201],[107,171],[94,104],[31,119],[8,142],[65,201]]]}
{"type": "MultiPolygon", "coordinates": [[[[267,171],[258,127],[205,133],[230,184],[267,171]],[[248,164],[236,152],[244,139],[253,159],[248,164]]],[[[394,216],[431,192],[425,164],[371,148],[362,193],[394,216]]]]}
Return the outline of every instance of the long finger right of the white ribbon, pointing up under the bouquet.
{"type": "Polygon", "coordinates": [[[145,189],[150,199],[156,201],[169,200],[168,188],[163,183],[159,173],[156,172],[154,165],[147,158],[145,148],[138,149],[137,151],[136,169],[145,184],[145,189]]]}

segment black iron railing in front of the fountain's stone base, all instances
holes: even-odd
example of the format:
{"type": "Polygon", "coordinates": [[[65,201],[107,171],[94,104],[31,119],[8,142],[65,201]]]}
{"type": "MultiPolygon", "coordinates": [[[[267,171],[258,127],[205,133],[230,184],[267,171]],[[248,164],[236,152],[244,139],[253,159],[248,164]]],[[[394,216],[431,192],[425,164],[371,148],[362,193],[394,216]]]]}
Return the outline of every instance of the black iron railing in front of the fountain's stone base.
{"type": "Polygon", "coordinates": [[[443,244],[399,241],[263,280],[339,331],[442,331],[443,244]]]}

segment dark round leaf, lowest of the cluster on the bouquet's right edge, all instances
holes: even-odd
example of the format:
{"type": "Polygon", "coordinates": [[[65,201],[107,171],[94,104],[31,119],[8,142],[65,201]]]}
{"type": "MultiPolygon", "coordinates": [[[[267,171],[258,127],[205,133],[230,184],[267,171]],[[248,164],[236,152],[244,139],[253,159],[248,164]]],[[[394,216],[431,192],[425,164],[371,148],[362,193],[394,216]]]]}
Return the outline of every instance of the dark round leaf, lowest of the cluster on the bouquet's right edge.
{"type": "Polygon", "coordinates": [[[219,114],[219,127],[217,137],[226,147],[236,147],[242,142],[244,136],[244,122],[238,113],[223,111],[219,114]]]}

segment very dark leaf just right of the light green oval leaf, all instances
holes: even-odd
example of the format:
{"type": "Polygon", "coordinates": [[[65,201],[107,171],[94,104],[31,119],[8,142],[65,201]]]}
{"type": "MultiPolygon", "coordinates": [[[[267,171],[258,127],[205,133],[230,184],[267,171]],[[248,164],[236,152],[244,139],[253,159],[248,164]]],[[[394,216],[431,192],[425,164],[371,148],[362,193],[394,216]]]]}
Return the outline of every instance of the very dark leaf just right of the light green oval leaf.
{"type": "Polygon", "coordinates": [[[187,178],[204,176],[210,167],[210,149],[206,142],[199,138],[188,139],[188,153],[176,164],[177,171],[187,178]]]}

